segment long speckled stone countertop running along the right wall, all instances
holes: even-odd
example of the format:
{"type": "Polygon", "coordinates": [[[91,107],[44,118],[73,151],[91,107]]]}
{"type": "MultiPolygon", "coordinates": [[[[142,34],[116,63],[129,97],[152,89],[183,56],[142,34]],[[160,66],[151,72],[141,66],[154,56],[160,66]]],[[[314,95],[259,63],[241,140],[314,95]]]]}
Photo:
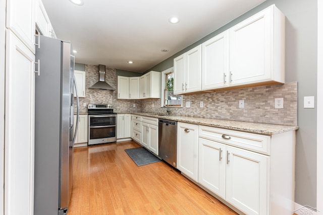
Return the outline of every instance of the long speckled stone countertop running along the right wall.
{"type": "Polygon", "coordinates": [[[177,116],[158,114],[158,113],[141,113],[141,112],[119,112],[119,114],[134,114],[140,116],[148,116],[159,119],[169,119],[178,122],[185,122],[197,125],[206,125],[217,128],[225,128],[230,130],[238,130],[249,133],[257,133],[263,135],[273,135],[277,133],[283,133],[291,130],[297,130],[298,126],[293,125],[278,125],[278,124],[267,124],[258,122],[243,122],[243,121],[233,121],[225,119],[210,119],[210,118],[200,118],[191,116],[177,116]]]}

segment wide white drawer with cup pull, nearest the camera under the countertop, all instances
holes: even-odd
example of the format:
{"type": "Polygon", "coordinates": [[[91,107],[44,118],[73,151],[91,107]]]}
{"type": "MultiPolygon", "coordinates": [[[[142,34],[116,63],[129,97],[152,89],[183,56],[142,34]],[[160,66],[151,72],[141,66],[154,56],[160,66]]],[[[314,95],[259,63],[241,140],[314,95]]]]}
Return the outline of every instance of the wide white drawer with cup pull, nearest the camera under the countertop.
{"type": "Polygon", "coordinates": [[[270,155],[270,136],[200,125],[199,137],[270,155]]]}

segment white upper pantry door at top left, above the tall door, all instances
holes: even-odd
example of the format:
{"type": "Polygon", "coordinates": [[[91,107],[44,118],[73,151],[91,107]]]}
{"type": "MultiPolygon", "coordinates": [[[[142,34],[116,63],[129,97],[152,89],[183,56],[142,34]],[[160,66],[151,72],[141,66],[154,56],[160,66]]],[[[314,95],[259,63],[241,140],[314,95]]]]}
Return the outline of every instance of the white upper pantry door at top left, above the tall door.
{"type": "Polygon", "coordinates": [[[7,1],[7,28],[35,53],[35,0],[7,1]]]}

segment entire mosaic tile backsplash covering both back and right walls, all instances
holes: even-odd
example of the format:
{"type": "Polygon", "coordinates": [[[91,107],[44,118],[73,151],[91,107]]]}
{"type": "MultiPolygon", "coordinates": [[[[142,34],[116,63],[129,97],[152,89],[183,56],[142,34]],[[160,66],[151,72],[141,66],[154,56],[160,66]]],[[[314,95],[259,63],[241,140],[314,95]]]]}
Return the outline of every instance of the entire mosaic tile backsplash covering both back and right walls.
{"type": "MultiPolygon", "coordinates": [[[[87,112],[88,104],[113,104],[116,112],[166,113],[160,107],[160,99],[125,100],[117,99],[117,90],[89,89],[98,81],[98,66],[85,65],[85,98],[80,98],[80,112],[87,112]],[[83,107],[86,103],[86,107],[83,107]],[[136,107],[133,107],[133,104],[136,107]]],[[[105,81],[117,89],[116,69],[105,69],[105,81]]],[[[218,91],[196,95],[184,95],[182,108],[171,108],[172,115],[229,119],[283,125],[297,125],[297,82],[284,85],[254,87],[237,90],[218,91]],[[284,108],[275,109],[275,98],[284,98],[284,108]],[[244,100],[244,108],[239,108],[239,100],[244,100]],[[187,101],[191,107],[186,108],[187,101]],[[200,101],[204,107],[200,108],[200,101]]]]}

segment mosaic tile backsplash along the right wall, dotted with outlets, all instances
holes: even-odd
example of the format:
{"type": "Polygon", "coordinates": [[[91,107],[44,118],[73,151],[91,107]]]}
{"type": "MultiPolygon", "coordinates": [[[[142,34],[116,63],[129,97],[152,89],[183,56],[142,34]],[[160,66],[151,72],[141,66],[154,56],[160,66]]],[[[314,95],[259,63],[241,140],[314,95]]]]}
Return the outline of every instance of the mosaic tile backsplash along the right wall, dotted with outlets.
{"type": "MultiPolygon", "coordinates": [[[[166,113],[166,109],[160,108],[160,99],[147,99],[142,112],[166,113]]],[[[297,82],[183,96],[183,108],[171,108],[171,114],[297,125],[297,82]],[[283,109],[275,109],[275,98],[284,98],[283,109]],[[244,100],[244,108],[239,108],[239,100],[244,100]],[[185,107],[187,101],[190,108],[185,107]]]]}

